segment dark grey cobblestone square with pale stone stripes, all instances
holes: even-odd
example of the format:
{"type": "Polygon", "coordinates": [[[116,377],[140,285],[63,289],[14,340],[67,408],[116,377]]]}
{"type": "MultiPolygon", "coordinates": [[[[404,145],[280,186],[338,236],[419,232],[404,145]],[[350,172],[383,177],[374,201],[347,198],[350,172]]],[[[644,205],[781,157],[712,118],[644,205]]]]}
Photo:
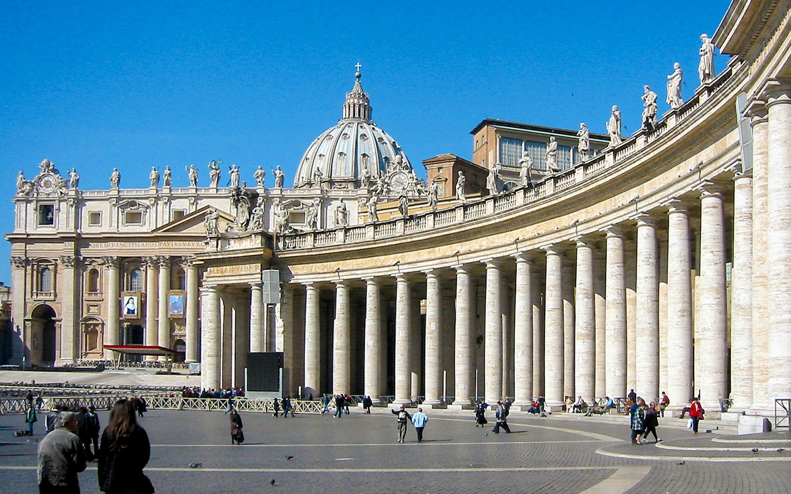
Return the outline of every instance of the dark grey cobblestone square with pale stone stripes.
{"type": "MultiPolygon", "coordinates": [[[[152,442],[146,473],[162,493],[791,492],[788,432],[693,437],[683,421],[660,419],[664,441],[636,446],[625,417],[514,412],[513,433],[498,435],[475,428],[471,413],[429,417],[424,441],[417,443],[410,428],[403,444],[385,409],[367,416],[353,410],[340,419],[243,413],[242,446],[230,444],[221,412],[153,410],[140,423],[152,442]],[[195,462],[202,467],[191,469],[195,462]]],[[[106,412],[100,418],[107,423],[106,412]]],[[[14,437],[21,428],[21,415],[0,417],[0,493],[37,491],[41,436],[14,437]]],[[[43,428],[42,414],[35,430],[43,428]]],[[[96,478],[93,465],[81,473],[82,492],[98,492],[96,478]]]]}

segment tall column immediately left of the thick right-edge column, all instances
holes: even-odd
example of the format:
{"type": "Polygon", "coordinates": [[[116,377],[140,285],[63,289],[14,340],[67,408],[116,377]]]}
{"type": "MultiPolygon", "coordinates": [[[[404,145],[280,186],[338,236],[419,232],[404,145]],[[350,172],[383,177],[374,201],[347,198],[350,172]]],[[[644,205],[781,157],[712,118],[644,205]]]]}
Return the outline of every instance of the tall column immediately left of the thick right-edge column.
{"type": "MultiPolygon", "coordinates": [[[[752,410],[774,413],[769,399],[769,266],[766,212],[766,161],[769,119],[760,100],[752,100],[752,410]]],[[[738,406],[738,404],[736,404],[738,406]]]]}

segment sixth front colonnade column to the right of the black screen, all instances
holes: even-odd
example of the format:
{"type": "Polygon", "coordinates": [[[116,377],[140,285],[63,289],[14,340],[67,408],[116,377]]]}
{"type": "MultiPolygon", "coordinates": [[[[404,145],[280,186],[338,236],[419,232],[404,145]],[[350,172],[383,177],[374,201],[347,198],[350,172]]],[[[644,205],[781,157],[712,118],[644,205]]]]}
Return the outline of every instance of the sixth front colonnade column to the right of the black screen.
{"type": "Polygon", "coordinates": [[[471,334],[473,315],[470,312],[470,273],[464,266],[456,266],[456,401],[464,403],[475,393],[472,385],[471,334]]]}

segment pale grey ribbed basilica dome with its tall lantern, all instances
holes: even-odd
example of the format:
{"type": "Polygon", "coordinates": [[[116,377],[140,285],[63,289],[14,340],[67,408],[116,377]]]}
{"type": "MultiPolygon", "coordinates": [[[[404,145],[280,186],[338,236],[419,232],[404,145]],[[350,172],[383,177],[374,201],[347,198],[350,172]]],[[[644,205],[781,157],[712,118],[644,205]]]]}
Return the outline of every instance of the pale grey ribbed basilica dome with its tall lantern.
{"type": "Polygon", "coordinates": [[[360,73],[354,77],[354,88],[346,93],[343,104],[343,119],[308,146],[293,187],[319,187],[316,182],[320,181],[325,188],[354,189],[360,187],[363,176],[375,180],[387,175],[388,164],[411,168],[395,139],[371,120],[370,100],[362,90],[360,73]]]}

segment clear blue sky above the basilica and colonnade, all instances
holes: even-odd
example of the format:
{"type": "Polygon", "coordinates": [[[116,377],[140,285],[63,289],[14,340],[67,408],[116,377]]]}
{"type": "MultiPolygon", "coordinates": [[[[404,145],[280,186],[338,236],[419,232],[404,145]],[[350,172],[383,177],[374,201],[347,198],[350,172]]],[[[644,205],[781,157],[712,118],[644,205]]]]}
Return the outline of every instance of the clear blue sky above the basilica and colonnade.
{"type": "MultiPolygon", "coordinates": [[[[0,230],[13,228],[19,170],[76,167],[83,189],[144,187],[151,166],[252,171],[281,165],[333,126],[362,64],[374,121],[423,172],[441,153],[471,157],[482,119],[624,134],[642,86],[664,104],[673,62],[698,86],[702,32],[729,2],[0,2],[0,230]],[[668,8],[672,6],[672,9],[668,8]]],[[[727,57],[717,56],[717,72],[727,57]]],[[[271,183],[271,173],[267,173],[271,183]]],[[[10,281],[0,243],[0,281],[10,281]]]]}

